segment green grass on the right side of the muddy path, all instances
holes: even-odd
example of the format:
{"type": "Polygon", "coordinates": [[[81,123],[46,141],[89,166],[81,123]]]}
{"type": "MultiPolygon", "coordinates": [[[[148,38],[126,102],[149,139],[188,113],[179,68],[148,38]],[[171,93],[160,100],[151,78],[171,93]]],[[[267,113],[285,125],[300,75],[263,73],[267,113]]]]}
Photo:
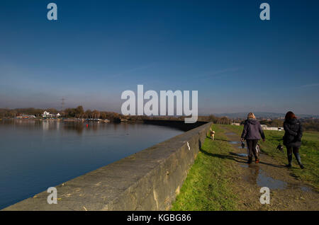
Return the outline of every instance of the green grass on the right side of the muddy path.
{"type": "MultiPolygon", "coordinates": [[[[227,125],[227,127],[238,135],[242,133],[242,126],[227,125]]],[[[279,143],[283,145],[282,137],[284,136],[284,131],[265,130],[264,134],[266,136],[266,142],[259,142],[261,151],[264,154],[272,156],[276,159],[276,161],[282,163],[282,165],[287,164],[286,147],[284,147],[284,153],[276,149],[279,143]]],[[[319,132],[303,132],[302,144],[299,152],[301,154],[301,162],[306,168],[301,170],[296,158],[293,156],[293,168],[289,169],[291,171],[291,175],[296,177],[298,180],[310,183],[317,189],[319,189],[318,150],[319,132]]]]}

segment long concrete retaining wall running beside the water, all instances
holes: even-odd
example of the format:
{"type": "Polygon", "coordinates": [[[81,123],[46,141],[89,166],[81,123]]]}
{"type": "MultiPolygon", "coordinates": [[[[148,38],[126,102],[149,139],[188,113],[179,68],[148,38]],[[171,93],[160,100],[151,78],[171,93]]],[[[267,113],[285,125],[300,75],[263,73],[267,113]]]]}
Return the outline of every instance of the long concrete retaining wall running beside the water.
{"type": "Polygon", "coordinates": [[[50,193],[44,191],[4,210],[167,210],[210,127],[196,127],[57,185],[57,204],[48,204],[50,193]]]}

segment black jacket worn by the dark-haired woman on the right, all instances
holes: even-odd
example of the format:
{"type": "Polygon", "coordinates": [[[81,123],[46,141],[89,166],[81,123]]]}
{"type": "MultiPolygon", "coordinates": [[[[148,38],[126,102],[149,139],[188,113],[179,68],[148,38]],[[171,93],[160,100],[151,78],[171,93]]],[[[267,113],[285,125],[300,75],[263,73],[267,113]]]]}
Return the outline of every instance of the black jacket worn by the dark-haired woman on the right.
{"type": "Polygon", "coordinates": [[[297,119],[286,120],[284,122],[284,129],[284,145],[289,147],[300,147],[301,137],[303,137],[301,122],[297,119]]]}

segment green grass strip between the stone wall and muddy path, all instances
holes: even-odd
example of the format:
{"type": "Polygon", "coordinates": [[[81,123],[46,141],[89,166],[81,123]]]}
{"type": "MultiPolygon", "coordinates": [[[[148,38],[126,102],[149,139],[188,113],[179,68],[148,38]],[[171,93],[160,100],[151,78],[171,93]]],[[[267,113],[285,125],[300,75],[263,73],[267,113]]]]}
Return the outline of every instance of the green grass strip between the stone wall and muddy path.
{"type": "Polygon", "coordinates": [[[227,158],[232,147],[225,142],[223,129],[213,125],[213,130],[216,140],[206,138],[172,210],[236,210],[237,197],[229,176],[234,168],[227,158]]]}

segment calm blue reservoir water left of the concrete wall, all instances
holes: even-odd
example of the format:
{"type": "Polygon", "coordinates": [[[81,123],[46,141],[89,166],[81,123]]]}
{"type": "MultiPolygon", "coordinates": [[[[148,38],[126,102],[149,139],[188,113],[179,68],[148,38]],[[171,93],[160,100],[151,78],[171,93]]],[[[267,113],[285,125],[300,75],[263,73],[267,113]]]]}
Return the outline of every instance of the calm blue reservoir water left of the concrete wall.
{"type": "Polygon", "coordinates": [[[145,124],[0,121],[0,209],[181,133],[145,124]]]}

